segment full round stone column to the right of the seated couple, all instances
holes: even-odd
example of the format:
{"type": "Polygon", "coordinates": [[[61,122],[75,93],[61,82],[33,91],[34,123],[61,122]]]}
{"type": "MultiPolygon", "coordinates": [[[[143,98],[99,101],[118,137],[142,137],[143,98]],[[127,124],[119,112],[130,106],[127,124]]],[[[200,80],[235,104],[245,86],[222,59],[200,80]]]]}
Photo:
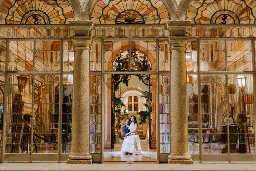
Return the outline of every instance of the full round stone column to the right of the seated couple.
{"type": "Polygon", "coordinates": [[[168,20],[166,29],[169,37],[171,55],[171,154],[168,164],[193,164],[188,154],[187,126],[187,76],[186,76],[186,29],[190,21],[168,20]]]}

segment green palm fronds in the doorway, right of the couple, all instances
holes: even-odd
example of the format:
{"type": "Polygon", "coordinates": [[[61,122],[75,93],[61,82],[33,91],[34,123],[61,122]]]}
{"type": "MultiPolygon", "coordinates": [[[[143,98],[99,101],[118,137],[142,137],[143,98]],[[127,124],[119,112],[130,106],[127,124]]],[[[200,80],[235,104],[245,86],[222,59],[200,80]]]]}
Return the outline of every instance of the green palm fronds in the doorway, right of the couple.
{"type": "MultiPolygon", "coordinates": [[[[148,101],[149,101],[149,97],[152,97],[152,94],[150,94],[150,96],[149,96],[149,91],[143,91],[141,97],[146,99],[146,103],[143,103],[143,105],[146,107],[146,109],[138,112],[138,115],[140,116],[140,123],[139,123],[140,125],[146,124],[147,120],[149,119],[150,112],[149,112],[149,107],[148,107],[148,101]]],[[[152,98],[150,98],[150,106],[151,106],[151,104],[152,104],[152,98]]],[[[150,107],[150,109],[151,109],[151,107],[150,107]]],[[[152,110],[150,110],[150,111],[152,111],[152,110]]]]}

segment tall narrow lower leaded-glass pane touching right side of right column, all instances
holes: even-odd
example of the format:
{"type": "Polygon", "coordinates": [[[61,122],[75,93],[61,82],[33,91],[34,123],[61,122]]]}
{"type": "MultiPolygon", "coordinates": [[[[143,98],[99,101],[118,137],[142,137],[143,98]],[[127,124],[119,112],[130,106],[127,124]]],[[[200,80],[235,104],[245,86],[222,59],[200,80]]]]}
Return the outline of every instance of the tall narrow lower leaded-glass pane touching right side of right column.
{"type": "Polygon", "coordinates": [[[198,82],[197,75],[187,75],[188,153],[199,153],[198,82]]]}

